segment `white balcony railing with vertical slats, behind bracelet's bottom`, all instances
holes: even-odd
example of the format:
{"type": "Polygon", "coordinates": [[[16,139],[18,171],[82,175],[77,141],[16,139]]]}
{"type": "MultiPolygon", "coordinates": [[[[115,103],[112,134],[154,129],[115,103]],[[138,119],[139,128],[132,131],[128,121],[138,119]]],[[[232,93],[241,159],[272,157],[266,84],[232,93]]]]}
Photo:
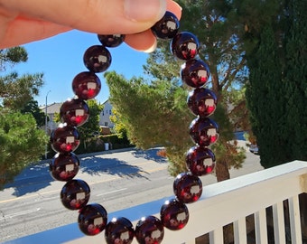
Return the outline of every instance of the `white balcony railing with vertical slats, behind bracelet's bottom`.
{"type": "MultiPolygon", "coordinates": [[[[235,243],[245,244],[246,217],[253,214],[256,243],[265,244],[268,242],[265,209],[270,206],[273,209],[274,243],[286,243],[284,200],[288,200],[289,206],[291,243],[302,243],[298,200],[298,195],[302,192],[307,192],[307,162],[302,161],[293,161],[204,186],[201,199],[188,205],[190,220],[187,226],[177,231],[165,230],[163,243],[194,244],[195,239],[206,233],[209,233],[209,243],[223,243],[223,226],[233,223],[235,243]]],[[[163,201],[146,203],[116,214],[133,220],[135,225],[144,215],[155,213],[154,215],[159,216],[163,201]]],[[[105,240],[102,233],[96,237],[82,237],[66,243],[95,244],[105,243],[105,240]]]]}

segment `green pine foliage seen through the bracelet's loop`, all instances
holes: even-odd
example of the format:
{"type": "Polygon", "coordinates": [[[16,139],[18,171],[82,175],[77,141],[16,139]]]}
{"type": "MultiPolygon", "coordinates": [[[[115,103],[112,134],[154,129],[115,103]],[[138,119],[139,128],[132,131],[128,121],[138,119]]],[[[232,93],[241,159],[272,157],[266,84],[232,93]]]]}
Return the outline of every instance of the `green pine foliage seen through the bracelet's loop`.
{"type": "Polygon", "coordinates": [[[131,143],[143,149],[164,145],[171,161],[170,173],[178,174],[191,145],[186,132],[192,115],[183,106],[186,90],[165,80],[148,84],[141,78],[126,80],[115,72],[107,72],[105,77],[110,101],[120,114],[131,143]]]}

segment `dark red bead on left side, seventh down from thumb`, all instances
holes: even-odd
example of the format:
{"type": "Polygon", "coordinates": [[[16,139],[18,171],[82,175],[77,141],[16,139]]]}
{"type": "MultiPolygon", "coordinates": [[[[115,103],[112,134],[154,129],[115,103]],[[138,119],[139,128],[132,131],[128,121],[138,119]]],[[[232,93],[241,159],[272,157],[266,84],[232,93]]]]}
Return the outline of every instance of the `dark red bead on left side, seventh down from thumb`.
{"type": "Polygon", "coordinates": [[[82,180],[70,180],[60,191],[60,201],[69,210],[79,210],[88,204],[90,189],[82,180]]]}

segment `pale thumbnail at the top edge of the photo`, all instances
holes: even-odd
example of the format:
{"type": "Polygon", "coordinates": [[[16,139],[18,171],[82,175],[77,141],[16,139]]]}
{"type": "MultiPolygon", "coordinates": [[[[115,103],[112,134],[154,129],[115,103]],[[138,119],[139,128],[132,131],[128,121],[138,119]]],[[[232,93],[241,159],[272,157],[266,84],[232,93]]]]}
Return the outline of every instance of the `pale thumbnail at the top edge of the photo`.
{"type": "Polygon", "coordinates": [[[166,11],[166,0],[125,0],[128,19],[140,22],[158,21],[166,11]]]}

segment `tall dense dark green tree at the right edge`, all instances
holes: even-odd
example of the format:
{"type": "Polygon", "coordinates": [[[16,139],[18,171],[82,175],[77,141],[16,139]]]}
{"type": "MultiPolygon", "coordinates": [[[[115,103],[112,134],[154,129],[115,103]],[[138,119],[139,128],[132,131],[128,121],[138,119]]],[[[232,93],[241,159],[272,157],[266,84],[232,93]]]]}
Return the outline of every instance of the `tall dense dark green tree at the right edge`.
{"type": "MultiPolygon", "coordinates": [[[[266,2],[259,2],[263,5],[266,2]]],[[[253,33],[247,103],[261,164],[307,159],[305,1],[272,1],[269,18],[253,33]]],[[[260,14],[260,12],[258,12],[260,14]]],[[[263,14],[261,14],[263,15],[263,14]]],[[[262,19],[263,17],[261,17],[262,19]]]]}

